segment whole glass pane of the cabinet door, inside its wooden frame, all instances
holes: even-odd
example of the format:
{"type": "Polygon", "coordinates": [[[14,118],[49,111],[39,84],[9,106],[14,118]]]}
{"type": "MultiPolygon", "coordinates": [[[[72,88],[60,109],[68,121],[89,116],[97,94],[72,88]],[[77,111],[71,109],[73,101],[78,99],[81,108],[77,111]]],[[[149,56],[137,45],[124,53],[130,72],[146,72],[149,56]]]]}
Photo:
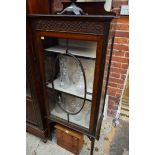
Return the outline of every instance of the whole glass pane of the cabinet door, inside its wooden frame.
{"type": "Polygon", "coordinates": [[[43,59],[50,114],[89,128],[97,44],[44,38],[43,59]]]}

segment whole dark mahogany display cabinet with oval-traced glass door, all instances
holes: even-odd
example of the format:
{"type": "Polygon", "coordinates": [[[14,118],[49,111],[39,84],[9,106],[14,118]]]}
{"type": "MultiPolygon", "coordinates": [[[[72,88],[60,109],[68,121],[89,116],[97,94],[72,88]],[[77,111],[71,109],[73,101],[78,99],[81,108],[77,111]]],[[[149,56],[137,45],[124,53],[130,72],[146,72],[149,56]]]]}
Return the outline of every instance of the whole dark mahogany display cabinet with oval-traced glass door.
{"type": "Polygon", "coordinates": [[[114,41],[109,31],[114,17],[113,13],[27,16],[49,132],[50,124],[58,123],[87,135],[90,154],[103,120],[114,41]],[[107,60],[109,37],[112,44],[107,60]]]}

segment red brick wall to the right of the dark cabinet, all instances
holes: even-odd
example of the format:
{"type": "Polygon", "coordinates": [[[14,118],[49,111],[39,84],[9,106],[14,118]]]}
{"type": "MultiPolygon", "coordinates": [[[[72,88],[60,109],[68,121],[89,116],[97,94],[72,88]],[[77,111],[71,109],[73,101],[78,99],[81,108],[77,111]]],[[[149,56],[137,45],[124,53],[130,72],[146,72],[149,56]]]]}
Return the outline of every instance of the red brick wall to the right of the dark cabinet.
{"type": "Polygon", "coordinates": [[[128,4],[128,0],[114,0],[112,5],[113,11],[116,12],[118,17],[112,23],[115,27],[115,41],[108,85],[108,114],[112,115],[116,113],[120,103],[129,65],[129,18],[128,16],[120,16],[119,13],[122,4],[128,4]]]}

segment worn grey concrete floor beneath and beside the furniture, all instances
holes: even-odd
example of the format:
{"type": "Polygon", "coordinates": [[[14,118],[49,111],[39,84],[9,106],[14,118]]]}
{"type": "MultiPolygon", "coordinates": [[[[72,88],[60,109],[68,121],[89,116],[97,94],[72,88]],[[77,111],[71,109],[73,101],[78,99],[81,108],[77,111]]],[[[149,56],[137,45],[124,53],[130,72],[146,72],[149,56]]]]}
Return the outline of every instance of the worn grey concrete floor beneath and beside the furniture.
{"type": "MultiPolygon", "coordinates": [[[[129,137],[128,122],[121,121],[118,127],[112,126],[112,119],[108,117],[103,121],[100,140],[95,142],[94,155],[128,155],[129,137]]],[[[90,141],[85,136],[84,146],[80,155],[89,155],[90,141]]],[[[47,143],[34,135],[26,135],[26,155],[73,155],[69,151],[57,145],[56,135],[53,134],[52,141],[47,143]]]]}

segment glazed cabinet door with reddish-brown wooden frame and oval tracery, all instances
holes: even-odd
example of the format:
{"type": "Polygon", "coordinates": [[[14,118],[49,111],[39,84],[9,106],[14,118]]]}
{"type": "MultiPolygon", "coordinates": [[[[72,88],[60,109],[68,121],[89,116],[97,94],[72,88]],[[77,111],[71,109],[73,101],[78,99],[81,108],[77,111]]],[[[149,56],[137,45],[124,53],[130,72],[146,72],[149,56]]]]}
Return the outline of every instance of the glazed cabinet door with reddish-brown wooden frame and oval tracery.
{"type": "Polygon", "coordinates": [[[95,117],[98,76],[96,37],[37,34],[48,117],[90,131],[95,117]],[[94,91],[95,90],[95,91],[94,91]],[[93,118],[91,118],[93,117],[93,118]]]}

